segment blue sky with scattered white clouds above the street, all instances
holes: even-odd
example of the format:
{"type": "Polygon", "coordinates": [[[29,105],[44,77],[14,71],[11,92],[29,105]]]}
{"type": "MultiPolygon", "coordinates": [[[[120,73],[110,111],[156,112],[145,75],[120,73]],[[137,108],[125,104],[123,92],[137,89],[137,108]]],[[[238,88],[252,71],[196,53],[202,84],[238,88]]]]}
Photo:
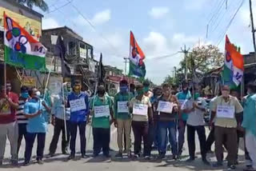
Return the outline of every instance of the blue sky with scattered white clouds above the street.
{"type": "MultiPolygon", "coordinates": [[[[65,5],[70,0],[46,0],[50,11],[65,5]]],[[[105,65],[124,70],[123,57],[129,54],[130,30],[146,54],[146,77],[161,84],[174,66],[182,60],[174,54],[182,46],[193,48],[204,44],[217,45],[224,50],[226,26],[242,0],[73,0],[66,6],[44,14],[42,28],[69,26],[82,35],[85,42],[94,46],[95,58],[103,54],[105,65]],[[223,4],[222,4],[223,2],[223,4]],[[82,18],[78,10],[93,23],[96,31],[82,18]],[[206,38],[206,25],[209,37],[206,38]],[[102,35],[102,36],[101,36],[102,35]],[[104,37],[104,39],[102,38],[104,37]],[[107,41],[105,40],[107,39],[107,41]],[[158,58],[158,59],[156,59],[158,58]]],[[[253,1],[255,2],[255,1],[253,1]]],[[[254,4],[254,10],[256,3],[254,4]]],[[[254,17],[256,18],[256,16],[254,17]]],[[[242,53],[253,50],[250,33],[250,13],[245,1],[234,18],[227,34],[230,41],[241,46],[242,53]]]]}

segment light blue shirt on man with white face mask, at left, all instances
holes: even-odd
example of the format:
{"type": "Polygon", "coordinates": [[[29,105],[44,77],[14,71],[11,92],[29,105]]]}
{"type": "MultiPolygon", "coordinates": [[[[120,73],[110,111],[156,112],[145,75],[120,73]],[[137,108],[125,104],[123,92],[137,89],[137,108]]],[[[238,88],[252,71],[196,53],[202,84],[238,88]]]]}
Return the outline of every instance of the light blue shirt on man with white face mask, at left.
{"type": "Polygon", "coordinates": [[[24,113],[26,114],[36,113],[39,109],[42,109],[42,113],[37,117],[30,118],[26,125],[28,133],[46,133],[47,131],[48,114],[42,105],[42,100],[30,99],[24,105],[24,113]]]}

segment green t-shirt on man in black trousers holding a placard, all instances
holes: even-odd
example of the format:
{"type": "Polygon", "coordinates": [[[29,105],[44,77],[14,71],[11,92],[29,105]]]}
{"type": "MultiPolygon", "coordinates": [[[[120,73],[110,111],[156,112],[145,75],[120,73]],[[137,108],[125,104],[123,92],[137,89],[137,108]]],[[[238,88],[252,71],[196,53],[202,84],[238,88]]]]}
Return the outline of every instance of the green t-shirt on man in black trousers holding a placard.
{"type": "MultiPolygon", "coordinates": [[[[90,99],[90,109],[94,109],[95,106],[101,106],[101,105],[109,105],[110,109],[112,109],[113,101],[107,95],[104,96],[103,101],[98,96],[92,97],[90,99]]],[[[93,113],[92,127],[93,128],[110,128],[110,116],[94,117],[94,113],[93,113]]]]}

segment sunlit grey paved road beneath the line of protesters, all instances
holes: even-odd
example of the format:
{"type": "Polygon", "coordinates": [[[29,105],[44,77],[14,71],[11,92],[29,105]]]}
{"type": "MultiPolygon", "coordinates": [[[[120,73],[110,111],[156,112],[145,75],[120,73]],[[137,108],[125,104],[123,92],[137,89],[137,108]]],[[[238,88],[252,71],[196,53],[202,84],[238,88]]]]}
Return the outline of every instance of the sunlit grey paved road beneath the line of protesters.
{"type": "MultiPolygon", "coordinates": [[[[87,137],[87,151],[89,154],[92,153],[92,136],[90,133],[90,127],[87,126],[86,128],[86,137],[87,137]],[[89,139],[90,138],[90,139],[89,139]]],[[[48,149],[50,146],[50,141],[53,135],[53,127],[50,125],[49,126],[49,133],[47,133],[46,135],[46,149],[45,149],[45,154],[49,153],[48,149]]],[[[56,153],[58,153],[57,156],[52,157],[52,158],[45,158],[44,165],[38,165],[36,163],[29,165],[29,166],[22,166],[22,161],[19,161],[20,164],[18,165],[18,167],[12,167],[11,165],[8,164],[8,160],[5,160],[5,164],[0,168],[0,170],[8,170],[8,171],[81,171],[81,170],[93,170],[93,171],[99,171],[99,170],[111,170],[111,171],[142,171],[142,170],[154,170],[154,171],[161,171],[161,170],[223,170],[226,169],[226,167],[222,167],[222,168],[212,168],[210,166],[206,166],[203,165],[201,162],[201,158],[200,158],[200,153],[199,153],[199,145],[198,145],[198,141],[196,141],[197,143],[197,154],[198,154],[198,158],[191,163],[187,163],[185,162],[185,160],[188,157],[188,150],[187,150],[187,145],[185,145],[186,150],[185,153],[183,153],[182,156],[182,160],[181,161],[172,161],[170,160],[170,157],[164,161],[156,161],[156,160],[151,160],[151,161],[144,161],[143,159],[138,160],[138,161],[130,161],[128,158],[123,158],[123,159],[115,159],[114,155],[115,153],[117,153],[116,151],[118,150],[117,147],[117,143],[116,143],[116,139],[117,139],[117,133],[116,133],[116,129],[112,128],[111,129],[111,142],[110,142],[110,148],[114,149],[114,152],[111,152],[111,159],[106,159],[104,157],[97,157],[97,158],[93,158],[93,157],[89,157],[87,159],[81,159],[80,155],[78,154],[76,159],[74,161],[66,161],[67,156],[59,154],[61,153],[61,149],[60,149],[60,143],[58,144],[58,150],[56,153]]],[[[22,142],[22,149],[20,151],[20,157],[23,156],[24,153],[24,149],[25,149],[25,145],[24,145],[24,141],[22,142]]],[[[34,151],[33,151],[33,155],[35,155],[35,148],[36,147],[36,143],[34,145],[34,151]]],[[[77,151],[79,151],[79,142],[76,146],[77,151]]],[[[244,152],[242,151],[242,149],[239,150],[239,162],[240,165],[238,165],[238,169],[237,170],[242,170],[244,168],[244,157],[243,154],[244,152]]],[[[157,152],[153,152],[154,155],[157,154],[157,152]]],[[[170,152],[168,153],[170,155],[170,152]]],[[[6,157],[10,157],[10,145],[9,142],[6,145],[6,157]]],[[[35,160],[35,158],[33,159],[33,161],[35,160]]],[[[214,154],[209,154],[209,161],[213,162],[216,161],[214,154]]]]}

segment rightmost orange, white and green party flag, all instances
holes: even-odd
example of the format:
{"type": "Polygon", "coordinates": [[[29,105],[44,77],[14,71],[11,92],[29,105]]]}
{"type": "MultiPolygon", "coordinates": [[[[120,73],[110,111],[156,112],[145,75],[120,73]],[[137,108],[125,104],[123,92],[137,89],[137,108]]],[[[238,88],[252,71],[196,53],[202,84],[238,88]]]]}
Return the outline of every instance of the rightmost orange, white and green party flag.
{"type": "Polygon", "coordinates": [[[243,56],[238,52],[234,45],[231,44],[226,35],[225,62],[224,70],[222,72],[222,82],[225,85],[230,85],[231,88],[237,87],[242,82],[243,71],[243,56]]]}

